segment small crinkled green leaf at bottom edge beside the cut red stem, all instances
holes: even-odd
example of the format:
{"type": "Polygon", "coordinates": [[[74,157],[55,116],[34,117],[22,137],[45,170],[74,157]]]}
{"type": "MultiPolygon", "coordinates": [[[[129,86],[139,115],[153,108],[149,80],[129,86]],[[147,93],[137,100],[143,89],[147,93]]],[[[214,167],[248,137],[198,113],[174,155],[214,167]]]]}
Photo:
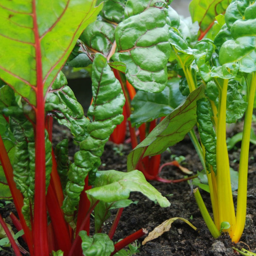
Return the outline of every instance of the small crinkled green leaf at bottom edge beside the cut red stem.
{"type": "Polygon", "coordinates": [[[109,256],[114,251],[114,242],[107,234],[98,233],[89,237],[86,231],[82,230],[79,236],[82,238],[82,250],[86,256],[109,256]]]}

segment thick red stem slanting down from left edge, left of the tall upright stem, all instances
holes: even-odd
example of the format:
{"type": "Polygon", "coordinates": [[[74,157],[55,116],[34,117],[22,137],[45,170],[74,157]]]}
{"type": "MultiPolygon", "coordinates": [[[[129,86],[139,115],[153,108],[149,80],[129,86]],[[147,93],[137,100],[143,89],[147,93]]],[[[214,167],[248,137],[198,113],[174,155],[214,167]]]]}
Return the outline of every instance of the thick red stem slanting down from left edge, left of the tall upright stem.
{"type": "Polygon", "coordinates": [[[30,250],[30,255],[33,256],[34,253],[33,253],[32,232],[30,231],[30,229],[26,225],[26,221],[25,221],[24,216],[21,212],[21,209],[22,209],[22,206],[23,206],[23,196],[22,196],[20,190],[17,189],[16,183],[14,182],[13,168],[12,168],[10,159],[8,157],[8,154],[6,152],[6,148],[4,146],[1,135],[0,135],[0,161],[1,161],[4,173],[5,173],[6,180],[7,180],[7,183],[9,185],[12,197],[13,197],[13,201],[14,201],[16,210],[18,212],[18,216],[19,216],[21,224],[22,224],[22,228],[24,230],[24,234],[26,236],[26,241],[27,241],[27,245],[28,245],[29,250],[30,250]]]}

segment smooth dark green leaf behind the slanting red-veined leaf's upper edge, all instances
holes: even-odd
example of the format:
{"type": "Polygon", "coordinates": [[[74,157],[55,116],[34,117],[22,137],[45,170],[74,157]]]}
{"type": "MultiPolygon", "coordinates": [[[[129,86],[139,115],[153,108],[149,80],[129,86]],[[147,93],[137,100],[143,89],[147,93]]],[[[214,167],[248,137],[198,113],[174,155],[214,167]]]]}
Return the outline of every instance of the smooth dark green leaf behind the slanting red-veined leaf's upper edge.
{"type": "Polygon", "coordinates": [[[179,78],[168,80],[167,86],[160,93],[138,91],[132,101],[134,109],[130,115],[132,125],[138,127],[143,122],[166,116],[179,106],[186,99],[180,93],[179,80],[179,78]]]}

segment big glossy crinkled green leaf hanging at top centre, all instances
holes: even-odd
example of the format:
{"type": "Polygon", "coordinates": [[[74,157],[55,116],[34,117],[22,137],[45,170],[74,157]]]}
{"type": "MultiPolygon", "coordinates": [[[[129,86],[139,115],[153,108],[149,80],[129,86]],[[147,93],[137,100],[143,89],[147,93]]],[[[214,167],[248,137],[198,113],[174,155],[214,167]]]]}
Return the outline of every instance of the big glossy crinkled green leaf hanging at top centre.
{"type": "Polygon", "coordinates": [[[170,44],[165,6],[165,1],[128,0],[125,19],[115,30],[118,52],[112,59],[127,66],[126,78],[138,90],[160,92],[167,83],[170,44]]]}

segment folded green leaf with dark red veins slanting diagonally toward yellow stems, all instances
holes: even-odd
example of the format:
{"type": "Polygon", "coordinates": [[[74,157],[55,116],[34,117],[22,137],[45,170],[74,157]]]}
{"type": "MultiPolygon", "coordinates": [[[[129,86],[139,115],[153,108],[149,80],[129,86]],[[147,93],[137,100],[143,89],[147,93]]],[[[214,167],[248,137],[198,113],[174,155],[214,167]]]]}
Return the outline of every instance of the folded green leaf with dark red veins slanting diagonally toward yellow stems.
{"type": "Polygon", "coordinates": [[[204,96],[204,86],[198,87],[186,101],[166,116],[127,158],[131,171],[142,157],[161,154],[168,146],[181,141],[196,123],[196,101],[204,96]]]}

